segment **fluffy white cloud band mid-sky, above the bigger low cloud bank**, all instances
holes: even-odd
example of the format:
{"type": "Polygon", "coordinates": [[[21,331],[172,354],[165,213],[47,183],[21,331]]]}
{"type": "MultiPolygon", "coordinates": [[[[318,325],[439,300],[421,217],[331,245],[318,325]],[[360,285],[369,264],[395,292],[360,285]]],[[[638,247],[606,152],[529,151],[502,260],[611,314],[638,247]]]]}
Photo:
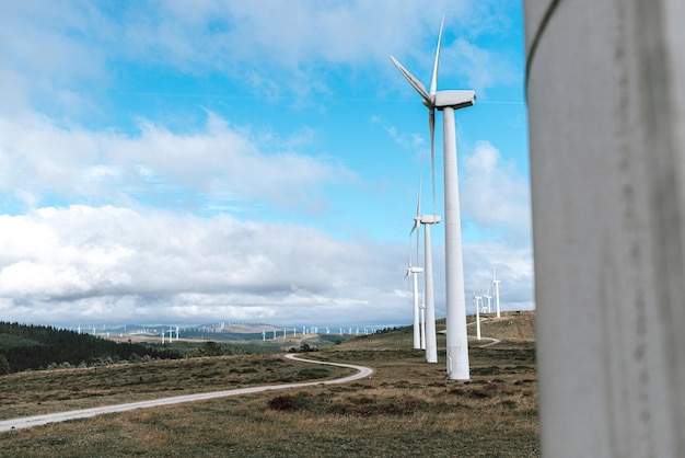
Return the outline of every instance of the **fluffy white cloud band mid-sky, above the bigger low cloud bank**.
{"type": "Polygon", "coordinates": [[[355,182],[341,163],[299,153],[315,135],[292,138],[232,128],[208,114],[205,129],[176,134],[147,121],[139,136],[58,126],[43,116],[0,117],[0,191],[35,205],[48,193],[80,202],[129,203],[176,194],[196,205],[227,198],[295,211],[321,211],[325,186],[355,182]],[[207,201],[207,202],[205,202],[207,201]]]}

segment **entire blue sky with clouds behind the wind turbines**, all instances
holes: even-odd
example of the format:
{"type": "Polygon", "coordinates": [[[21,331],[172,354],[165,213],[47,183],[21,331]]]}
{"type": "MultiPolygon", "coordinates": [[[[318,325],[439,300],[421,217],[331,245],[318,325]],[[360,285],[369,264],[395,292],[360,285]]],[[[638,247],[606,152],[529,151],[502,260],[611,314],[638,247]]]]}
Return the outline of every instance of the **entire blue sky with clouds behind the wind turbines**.
{"type": "Polygon", "coordinates": [[[438,89],[477,94],[455,116],[467,312],[494,268],[502,309],[533,309],[521,3],[8,2],[0,321],[409,324],[430,137],[390,56],[428,87],[443,14],[438,89]]]}

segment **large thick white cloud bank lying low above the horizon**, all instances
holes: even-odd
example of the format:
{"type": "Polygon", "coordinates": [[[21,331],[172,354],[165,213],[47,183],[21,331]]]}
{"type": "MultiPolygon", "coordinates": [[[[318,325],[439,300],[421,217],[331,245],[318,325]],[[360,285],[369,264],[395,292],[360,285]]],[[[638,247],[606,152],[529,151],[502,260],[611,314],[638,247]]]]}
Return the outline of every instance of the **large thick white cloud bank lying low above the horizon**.
{"type": "Polygon", "coordinates": [[[71,206],[2,216],[0,245],[11,248],[0,257],[5,320],[363,324],[406,316],[386,287],[402,278],[395,248],[367,250],[298,226],[71,206]]]}

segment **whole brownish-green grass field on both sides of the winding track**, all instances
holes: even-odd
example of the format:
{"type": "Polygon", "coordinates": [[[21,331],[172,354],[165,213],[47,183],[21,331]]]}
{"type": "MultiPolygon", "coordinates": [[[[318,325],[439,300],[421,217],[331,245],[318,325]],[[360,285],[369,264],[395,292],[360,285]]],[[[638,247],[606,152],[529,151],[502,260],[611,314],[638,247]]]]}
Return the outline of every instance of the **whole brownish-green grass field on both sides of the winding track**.
{"type": "MultiPolygon", "coordinates": [[[[481,333],[502,342],[480,348],[469,341],[468,382],[445,379],[444,351],[426,364],[406,328],[305,355],[375,369],[358,382],[13,431],[0,434],[0,456],[538,456],[534,313],[484,322],[481,333]]],[[[438,345],[444,348],[444,335],[438,345]]],[[[278,354],[12,374],[0,377],[0,419],[348,374],[278,354]]]]}

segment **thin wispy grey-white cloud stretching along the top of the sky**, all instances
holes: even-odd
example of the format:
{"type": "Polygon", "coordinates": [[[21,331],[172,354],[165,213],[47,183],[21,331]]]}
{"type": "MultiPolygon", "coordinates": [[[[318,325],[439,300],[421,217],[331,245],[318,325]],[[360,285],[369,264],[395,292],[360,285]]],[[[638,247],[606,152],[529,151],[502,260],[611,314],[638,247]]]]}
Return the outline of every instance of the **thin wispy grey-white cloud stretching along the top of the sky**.
{"type": "Polygon", "coordinates": [[[514,66],[512,57],[473,42],[502,24],[507,9],[499,2],[449,3],[12,2],[0,18],[0,79],[7,82],[0,85],[1,110],[28,105],[71,117],[100,114],[102,100],[93,99],[93,90],[102,98],[126,77],[129,64],[181,75],[222,73],[266,103],[283,93],[299,96],[295,103],[315,103],[311,94],[330,90],[329,73],[338,80],[345,73],[348,82],[359,75],[369,82],[368,72],[394,75],[390,54],[428,71],[444,12],[458,37],[445,42],[444,75],[468,76],[479,91],[501,83],[514,66]]]}

